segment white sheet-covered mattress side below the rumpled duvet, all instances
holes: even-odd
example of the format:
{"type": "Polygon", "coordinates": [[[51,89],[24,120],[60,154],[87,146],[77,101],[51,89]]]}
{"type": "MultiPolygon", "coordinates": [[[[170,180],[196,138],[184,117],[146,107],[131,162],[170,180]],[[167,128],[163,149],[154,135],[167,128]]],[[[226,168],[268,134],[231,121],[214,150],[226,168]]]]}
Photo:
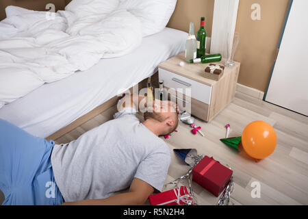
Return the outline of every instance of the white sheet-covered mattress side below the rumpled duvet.
{"type": "Polygon", "coordinates": [[[46,138],[113,96],[155,73],[159,63],[184,51],[188,34],[166,28],[143,38],[138,49],[103,59],[89,70],[40,88],[0,109],[0,118],[46,138]]]}

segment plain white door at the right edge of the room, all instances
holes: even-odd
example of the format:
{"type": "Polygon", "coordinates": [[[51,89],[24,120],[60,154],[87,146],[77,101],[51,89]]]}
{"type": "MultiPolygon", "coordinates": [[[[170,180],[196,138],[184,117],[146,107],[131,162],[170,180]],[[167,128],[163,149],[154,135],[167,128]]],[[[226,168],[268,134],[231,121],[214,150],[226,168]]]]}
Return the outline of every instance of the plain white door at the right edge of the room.
{"type": "Polygon", "coordinates": [[[294,0],[266,101],[308,116],[308,1],[294,0]]]}

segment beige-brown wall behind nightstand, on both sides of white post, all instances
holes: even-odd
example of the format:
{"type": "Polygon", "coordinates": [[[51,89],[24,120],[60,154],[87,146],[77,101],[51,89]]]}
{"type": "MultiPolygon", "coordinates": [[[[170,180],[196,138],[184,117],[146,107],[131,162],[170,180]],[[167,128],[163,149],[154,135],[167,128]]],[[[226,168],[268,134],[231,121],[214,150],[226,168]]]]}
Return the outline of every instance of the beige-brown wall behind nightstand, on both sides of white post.
{"type": "MultiPolygon", "coordinates": [[[[285,14],[290,0],[240,0],[235,31],[240,33],[240,44],[235,60],[241,62],[238,82],[265,91],[276,55],[285,14]],[[251,5],[261,5],[261,21],[251,19],[251,5]]],[[[168,27],[188,31],[190,21],[195,31],[199,19],[205,16],[207,35],[211,36],[214,0],[178,0],[168,27]]]]}

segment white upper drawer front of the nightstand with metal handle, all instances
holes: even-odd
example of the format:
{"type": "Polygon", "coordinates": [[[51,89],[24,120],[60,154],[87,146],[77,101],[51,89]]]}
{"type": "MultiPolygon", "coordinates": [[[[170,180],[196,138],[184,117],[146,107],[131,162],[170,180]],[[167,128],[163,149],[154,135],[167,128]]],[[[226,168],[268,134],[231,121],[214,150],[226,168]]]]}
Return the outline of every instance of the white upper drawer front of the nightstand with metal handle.
{"type": "MultiPolygon", "coordinates": [[[[185,89],[191,89],[191,97],[206,104],[211,102],[211,86],[199,83],[187,77],[177,75],[163,68],[159,68],[159,80],[164,81],[164,86],[167,88],[182,88],[185,94],[185,89]]],[[[186,95],[188,95],[186,93],[186,95]]]]}

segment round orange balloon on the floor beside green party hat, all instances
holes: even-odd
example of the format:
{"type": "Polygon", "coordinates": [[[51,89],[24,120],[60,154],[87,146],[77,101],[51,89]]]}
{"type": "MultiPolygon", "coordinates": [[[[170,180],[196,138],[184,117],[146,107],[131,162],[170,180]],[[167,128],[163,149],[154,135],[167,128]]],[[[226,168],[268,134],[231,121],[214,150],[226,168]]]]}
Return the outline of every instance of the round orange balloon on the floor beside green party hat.
{"type": "Polygon", "coordinates": [[[274,152],[277,135],[272,126],[264,121],[247,125],[242,133],[242,145],[246,153],[255,159],[264,159],[274,152]]]}

